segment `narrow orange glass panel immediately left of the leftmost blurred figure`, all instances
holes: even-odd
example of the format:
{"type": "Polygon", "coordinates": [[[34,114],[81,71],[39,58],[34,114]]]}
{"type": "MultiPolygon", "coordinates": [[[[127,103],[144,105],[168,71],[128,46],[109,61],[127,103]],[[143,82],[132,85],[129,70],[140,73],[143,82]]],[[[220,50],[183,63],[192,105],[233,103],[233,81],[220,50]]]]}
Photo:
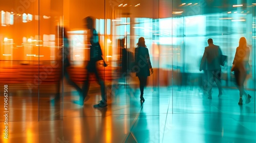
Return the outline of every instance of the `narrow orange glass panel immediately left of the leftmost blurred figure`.
{"type": "Polygon", "coordinates": [[[38,87],[39,121],[62,120],[63,74],[69,47],[63,18],[63,1],[39,1],[38,87]],[[65,28],[65,29],[64,29],[65,28]]]}

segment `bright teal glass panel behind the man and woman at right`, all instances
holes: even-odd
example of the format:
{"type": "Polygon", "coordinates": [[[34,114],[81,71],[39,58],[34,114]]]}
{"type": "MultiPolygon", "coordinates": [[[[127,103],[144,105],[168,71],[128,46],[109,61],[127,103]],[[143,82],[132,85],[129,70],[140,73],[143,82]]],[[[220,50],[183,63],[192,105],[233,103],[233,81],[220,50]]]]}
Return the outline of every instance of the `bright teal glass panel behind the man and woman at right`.
{"type": "MultiPolygon", "coordinates": [[[[254,9],[253,1],[229,1],[225,5],[216,1],[173,3],[173,18],[169,18],[169,21],[172,21],[173,58],[172,62],[169,62],[172,63],[169,68],[174,71],[176,67],[180,67],[180,74],[173,76],[173,92],[176,93],[173,97],[174,113],[241,112],[238,106],[239,90],[234,72],[230,71],[241,37],[246,38],[250,49],[250,72],[244,82],[246,96],[243,97],[243,104],[247,94],[254,97],[254,9]],[[212,38],[214,44],[220,46],[222,54],[227,56],[220,74],[223,94],[220,94],[215,82],[207,82],[207,72],[199,70],[209,38],[212,38]],[[178,56],[175,56],[176,53],[178,56]],[[176,81],[181,82],[178,84],[176,81]],[[212,99],[208,99],[209,93],[206,91],[211,85],[212,99]]],[[[254,103],[252,100],[247,104],[246,107],[250,110],[244,112],[254,112],[254,103]]],[[[243,106],[243,109],[246,107],[243,106]]]]}

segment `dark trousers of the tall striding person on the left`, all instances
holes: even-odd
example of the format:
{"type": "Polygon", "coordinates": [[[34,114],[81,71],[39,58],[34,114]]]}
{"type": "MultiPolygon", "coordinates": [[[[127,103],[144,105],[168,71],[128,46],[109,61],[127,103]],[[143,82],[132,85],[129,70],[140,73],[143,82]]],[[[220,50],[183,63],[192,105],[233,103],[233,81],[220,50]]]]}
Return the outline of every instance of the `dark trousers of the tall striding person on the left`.
{"type": "Polygon", "coordinates": [[[98,84],[100,85],[100,91],[101,91],[101,98],[103,102],[106,102],[106,93],[105,93],[105,85],[104,85],[104,81],[99,77],[99,71],[96,69],[96,67],[94,69],[92,69],[90,72],[88,72],[87,76],[86,76],[86,80],[84,81],[84,84],[82,86],[82,96],[80,98],[80,100],[84,101],[84,99],[86,99],[87,95],[88,95],[88,91],[90,88],[90,81],[89,81],[89,77],[90,75],[95,74],[95,77],[98,81],[98,84]]]}

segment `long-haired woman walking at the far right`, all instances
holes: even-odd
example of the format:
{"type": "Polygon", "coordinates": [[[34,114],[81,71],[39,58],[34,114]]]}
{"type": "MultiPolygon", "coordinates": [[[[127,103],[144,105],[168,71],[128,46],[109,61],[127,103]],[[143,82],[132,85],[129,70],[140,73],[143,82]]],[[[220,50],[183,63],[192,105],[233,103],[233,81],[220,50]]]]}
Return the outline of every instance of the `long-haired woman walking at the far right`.
{"type": "Polygon", "coordinates": [[[239,105],[243,104],[243,95],[245,97],[245,103],[250,103],[251,96],[247,94],[244,90],[244,82],[246,76],[250,72],[250,65],[249,65],[249,56],[250,56],[250,49],[247,46],[245,37],[241,37],[239,40],[239,46],[237,47],[236,54],[234,55],[233,65],[231,71],[234,71],[234,78],[236,79],[236,84],[239,89],[239,105]]]}

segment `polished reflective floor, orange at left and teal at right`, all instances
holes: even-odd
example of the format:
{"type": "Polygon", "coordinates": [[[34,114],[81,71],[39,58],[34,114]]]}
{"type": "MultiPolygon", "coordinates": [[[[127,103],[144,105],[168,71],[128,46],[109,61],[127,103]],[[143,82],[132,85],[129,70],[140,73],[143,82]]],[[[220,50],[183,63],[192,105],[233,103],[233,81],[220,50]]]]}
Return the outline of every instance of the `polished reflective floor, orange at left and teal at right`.
{"type": "Polygon", "coordinates": [[[214,88],[208,100],[199,87],[147,87],[141,105],[139,89],[116,86],[108,88],[108,107],[97,109],[95,86],[84,106],[71,102],[75,91],[60,103],[40,94],[39,104],[37,94],[10,93],[8,139],[1,92],[0,142],[256,142],[254,91],[251,103],[239,106],[237,89],[218,97],[214,88]]]}

